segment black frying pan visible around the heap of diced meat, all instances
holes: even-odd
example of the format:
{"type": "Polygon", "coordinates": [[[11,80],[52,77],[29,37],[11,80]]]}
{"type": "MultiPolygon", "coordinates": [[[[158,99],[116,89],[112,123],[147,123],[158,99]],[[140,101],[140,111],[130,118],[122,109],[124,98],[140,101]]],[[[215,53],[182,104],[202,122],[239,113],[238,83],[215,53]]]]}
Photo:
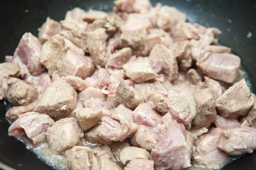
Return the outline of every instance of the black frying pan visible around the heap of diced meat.
{"type": "MultiPolygon", "coordinates": [[[[250,0],[151,0],[152,5],[175,6],[184,12],[187,20],[222,31],[217,36],[221,44],[231,47],[241,57],[256,85],[256,3],[250,0]]],[[[60,21],[67,10],[80,7],[85,10],[111,11],[112,0],[1,0],[0,2],[0,61],[13,55],[25,32],[38,35],[38,28],[47,16],[60,21]]],[[[52,170],[40,161],[23,143],[8,136],[9,123],[6,107],[0,102],[0,168],[11,170],[52,170]],[[11,167],[11,169],[10,169],[11,167]]],[[[224,170],[256,170],[256,153],[245,155],[226,165],[224,170]]]]}

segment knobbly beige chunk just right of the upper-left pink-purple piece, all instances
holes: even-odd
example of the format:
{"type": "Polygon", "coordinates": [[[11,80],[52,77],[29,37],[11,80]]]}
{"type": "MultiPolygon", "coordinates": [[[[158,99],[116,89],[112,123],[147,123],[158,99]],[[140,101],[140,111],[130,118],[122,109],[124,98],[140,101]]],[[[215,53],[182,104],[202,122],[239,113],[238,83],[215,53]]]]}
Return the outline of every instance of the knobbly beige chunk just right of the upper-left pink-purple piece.
{"type": "Polygon", "coordinates": [[[65,55],[66,51],[64,39],[59,34],[54,35],[44,43],[40,63],[47,68],[49,76],[52,76],[52,73],[57,69],[57,61],[65,55]]]}

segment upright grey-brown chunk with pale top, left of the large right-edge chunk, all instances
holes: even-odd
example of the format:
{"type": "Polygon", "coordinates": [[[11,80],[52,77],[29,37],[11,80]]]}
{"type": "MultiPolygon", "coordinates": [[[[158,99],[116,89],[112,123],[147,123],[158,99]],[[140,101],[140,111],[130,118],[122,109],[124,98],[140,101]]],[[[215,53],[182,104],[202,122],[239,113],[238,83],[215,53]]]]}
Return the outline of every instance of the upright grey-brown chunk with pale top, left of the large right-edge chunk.
{"type": "Polygon", "coordinates": [[[215,96],[210,88],[193,93],[196,104],[196,115],[192,124],[196,127],[208,127],[217,120],[215,96]]]}

